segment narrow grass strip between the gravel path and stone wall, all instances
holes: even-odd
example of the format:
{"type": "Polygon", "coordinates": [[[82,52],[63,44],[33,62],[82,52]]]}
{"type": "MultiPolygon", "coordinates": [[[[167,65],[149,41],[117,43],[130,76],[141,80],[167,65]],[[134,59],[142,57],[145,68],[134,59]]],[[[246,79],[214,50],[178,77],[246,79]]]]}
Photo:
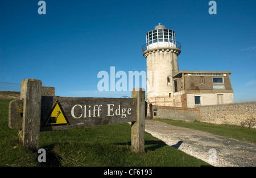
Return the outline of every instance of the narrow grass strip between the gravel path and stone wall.
{"type": "Polygon", "coordinates": [[[174,126],[205,131],[211,134],[241,140],[243,142],[256,143],[256,129],[246,128],[242,126],[234,126],[234,125],[215,125],[212,123],[205,123],[205,122],[199,122],[199,121],[185,122],[185,121],[176,121],[172,119],[154,119],[154,120],[165,122],[174,126]]]}

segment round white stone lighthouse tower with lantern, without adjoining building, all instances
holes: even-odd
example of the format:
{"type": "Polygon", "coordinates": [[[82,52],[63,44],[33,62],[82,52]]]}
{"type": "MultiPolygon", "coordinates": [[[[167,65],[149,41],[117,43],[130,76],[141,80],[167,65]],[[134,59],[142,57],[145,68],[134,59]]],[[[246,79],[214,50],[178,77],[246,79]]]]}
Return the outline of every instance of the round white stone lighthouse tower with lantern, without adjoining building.
{"type": "Polygon", "coordinates": [[[181,44],[176,42],[175,32],[159,23],[147,32],[142,46],[147,59],[147,100],[153,105],[175,106],[175,81],[172,76],[179,71],[177,56],[181,44]]]}

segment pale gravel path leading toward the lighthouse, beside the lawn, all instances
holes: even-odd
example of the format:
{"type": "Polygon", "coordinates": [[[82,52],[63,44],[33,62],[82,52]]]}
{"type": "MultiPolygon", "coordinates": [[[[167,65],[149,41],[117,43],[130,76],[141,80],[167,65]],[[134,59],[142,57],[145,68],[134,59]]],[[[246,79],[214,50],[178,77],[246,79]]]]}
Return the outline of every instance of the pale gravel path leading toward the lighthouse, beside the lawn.
{"type": "Polygon", "coordinates": [[[214,166],[256,166],[255,144],[152,120],[146,120],[145,131],[167,145],[214,166]]]}

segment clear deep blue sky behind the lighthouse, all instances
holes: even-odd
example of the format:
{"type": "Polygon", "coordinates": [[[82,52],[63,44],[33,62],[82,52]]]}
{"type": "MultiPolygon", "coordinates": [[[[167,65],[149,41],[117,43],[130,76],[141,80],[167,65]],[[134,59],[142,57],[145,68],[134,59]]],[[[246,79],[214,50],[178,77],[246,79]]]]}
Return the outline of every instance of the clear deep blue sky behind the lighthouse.
{"type": "MultiPolygon", "coordinates": [[[[24,78],[57,96],[121,97],[99,92],[100,71],[146,71],[141,47],[158,23],[176,32],[182,71],[231,71],[234,102],[256,101],[256,1],[0,1],[0,82],[24,78]]],[[[117,81],[118,79],[116,79],[117,81]]]]}

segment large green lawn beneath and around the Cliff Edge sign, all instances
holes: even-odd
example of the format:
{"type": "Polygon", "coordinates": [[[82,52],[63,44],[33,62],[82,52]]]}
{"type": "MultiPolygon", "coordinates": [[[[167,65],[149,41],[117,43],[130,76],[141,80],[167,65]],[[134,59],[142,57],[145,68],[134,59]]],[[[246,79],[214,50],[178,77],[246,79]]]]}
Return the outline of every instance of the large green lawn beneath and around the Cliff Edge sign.
{"type": "Polygon", "coordinates": [[[80,167],[197,167],[208,163],[167,146],[145,133],[145,152],[131,151],[128,123],[40,133],[40,148],[47,151],[46,163],[24,148],[18,130],[8,127],[10,99],[0,98],[0,166],[80,166],[80,167]]]}

